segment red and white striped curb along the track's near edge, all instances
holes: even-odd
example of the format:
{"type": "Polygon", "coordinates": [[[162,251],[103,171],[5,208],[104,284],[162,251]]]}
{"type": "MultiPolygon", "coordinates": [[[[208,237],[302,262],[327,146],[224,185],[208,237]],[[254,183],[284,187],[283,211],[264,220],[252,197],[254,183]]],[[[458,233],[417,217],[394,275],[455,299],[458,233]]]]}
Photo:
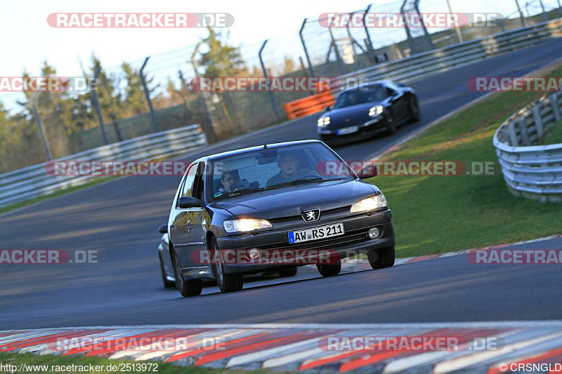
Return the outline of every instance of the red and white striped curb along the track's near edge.
{"type": "MultiPolygon", "coordinates": [[[[65,343],[66,344],[66,343],[65,343]]],[[[160,361],[184,366],[242,370],[339,373],[502,373],[500,365],[562,363],[562,321],[412,323],[412,324],[255,324],[183,326],[108,326],[0,331],[0,352],[96,356],[160,361]],[[444,350],[327,350],[328,337],[457,336],[466,344],[444,350]],[[58,342],[86,338],[185,338],[180,351],[157,349],[61,349],[58,342]],[[497,338],[499,349],[476,349],[476,339],[497,338]],[[205,340],[223,338],[221,349],[204,349],[205,340]],[[55,347],[58,347],[55,349],[55,347]],[[325,347],[325,346],[324,346],[325,347]]],[[[514,366],[512,366],[514,365],[514,366]]],[[[505,367],[505,366],[504,366],[505,367]]],[[[561,369],[562,370],[562,369],[561,369]]],[[[509,372],[510,370],[507,370],[509,372]]],[[[516,371],[516,370],[514,370],[516,371]]]]}

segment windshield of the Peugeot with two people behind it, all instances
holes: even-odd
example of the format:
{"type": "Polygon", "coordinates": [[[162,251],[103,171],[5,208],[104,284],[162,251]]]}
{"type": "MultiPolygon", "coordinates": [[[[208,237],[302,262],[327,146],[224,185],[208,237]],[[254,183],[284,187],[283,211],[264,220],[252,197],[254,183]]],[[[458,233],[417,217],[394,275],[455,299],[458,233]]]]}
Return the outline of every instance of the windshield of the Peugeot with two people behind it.
{"type": "Polygon", "coordinates": [[[268,189],[353,179],[347,166],[320,143],[259,149],[212,162],[213,199],[268,189]]]}

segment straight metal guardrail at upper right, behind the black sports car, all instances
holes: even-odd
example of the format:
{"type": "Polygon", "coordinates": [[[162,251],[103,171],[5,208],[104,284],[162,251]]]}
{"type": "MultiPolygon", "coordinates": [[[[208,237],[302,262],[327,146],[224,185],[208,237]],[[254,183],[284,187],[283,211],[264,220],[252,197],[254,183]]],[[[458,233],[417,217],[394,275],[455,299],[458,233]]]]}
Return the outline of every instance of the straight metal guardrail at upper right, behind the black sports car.
{"type": "Polygon", "coordinates": [[[344,82],[346,78],[351,77],[368,79],[369,81],[389,79],[408,83],[444,72],[452,67],[459,67],[500,53],[515,51],[554,37],[562,37],[562,18],[419,53],[402,60],[367,67],[338,76],[338,79],[340,82],[344,82]]]}

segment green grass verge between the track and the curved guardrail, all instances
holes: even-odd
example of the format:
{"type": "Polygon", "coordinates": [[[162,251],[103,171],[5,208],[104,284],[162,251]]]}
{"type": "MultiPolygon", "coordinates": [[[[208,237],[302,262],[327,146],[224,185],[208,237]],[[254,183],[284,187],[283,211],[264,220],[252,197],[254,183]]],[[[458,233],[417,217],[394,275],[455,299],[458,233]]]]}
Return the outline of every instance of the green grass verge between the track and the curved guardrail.
{"type": "MultiPolygon", "coordinates": [[[[562,65],[547,76],[562,74],[562,65]]],[[[512,196],[492,137],[512,113],[541,93],[496,93],[438,123],[384,161],[495,162],[490,176],[384,176],[377,185],[393,211],[398,257],[443,253],[562,232],[562,204],[512,196]]]]}

